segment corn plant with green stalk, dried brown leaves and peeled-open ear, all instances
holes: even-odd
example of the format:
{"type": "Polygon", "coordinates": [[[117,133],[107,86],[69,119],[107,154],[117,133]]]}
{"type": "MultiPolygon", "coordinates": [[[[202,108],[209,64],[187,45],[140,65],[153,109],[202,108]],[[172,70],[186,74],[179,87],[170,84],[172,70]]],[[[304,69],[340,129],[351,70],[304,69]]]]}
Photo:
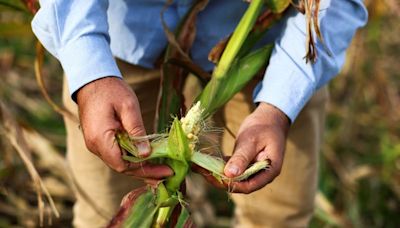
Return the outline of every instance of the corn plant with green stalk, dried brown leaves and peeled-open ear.
{"type": "MultiPolygon", "coordinates": [[[[2,0],[0,4],[14,6],[9,2],[2,0]]],[[[22,2],[32,14],[37,11],[35,0],[22,2]]],[[[181,191],[182,182],[192,164],[210,171],[220,182],[242,181],[270,166],[268,161],[260,161],[248,167],[239,177],[228,178],[223,172],[225,162],[222,159],[199,152],[198,138],[204,121],[239,92],[266,65],[272,45],[255,51],[253,47],[274,22],[282,17],[290,5],[290,0],[253,0],[233,34],[210,53],[210,60],[217,63],[211,77],[188,57],[188,51],[195,37],[196,16],[207,3],[207,0],[197,1],[178,26],[175,34],[170,32],[164,23],[169,45],[162,64],[162,90],[159,96],[155,129],[157,132],[167,131],[168,133],[159,134],[152,140],[153,153],[147,158],[139,157],[135,147],[135,141],[143,139],[133,138],[125,132],[116,134],[118,144],[126,152],[123,156],[125,160],[167,164],[174,170],[175,175],[154,186],[137,189],[128,194],[123,201],[122,209],[110,223],[110,227],[164,227],[167,224],[177,227],[192,226],[181,191]],[[261,14],[265,5],[269,10],[261,14]],[[211,80],[187,115],[182,117],[180,114],[185,112],[185,107],[183,107],[184,98],[181,90],[188,72],[196,75],[204,84],[209,78],[211,80]],[[175,219],[170,219],[171,216],[174,217],[173,214],[175,214],[175,219]]],[[[302,4],[298,6],[298,9],[306,14],[308,25],[309,48],[306,58],[315,61],[316,49],[312,25],[317,37],[322,41],[318,27],[319,0],[302,0],[300,3],[302,4]]],[[[43,49],[38,47],[39,58],[36,71],[39,72],[37,75],[40,75],[43,49]]],[[[41,88],[42,92],[46,91],[44,86],[41,88]]],[[[51,99],[47,100],[59,113],[68,116],[51,99]]]]}

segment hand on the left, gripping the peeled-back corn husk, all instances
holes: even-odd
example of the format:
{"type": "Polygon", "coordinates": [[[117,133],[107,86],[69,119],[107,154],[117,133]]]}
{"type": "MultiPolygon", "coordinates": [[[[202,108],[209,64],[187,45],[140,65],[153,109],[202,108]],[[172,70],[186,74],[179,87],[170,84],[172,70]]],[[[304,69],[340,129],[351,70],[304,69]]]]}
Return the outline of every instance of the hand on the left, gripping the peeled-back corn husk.
{"type": "MultiPolygon", "coordinates": [[[[132,136],[146,135],[138,99],[123,80],[106,77],[93,81],[78,91],[77,103],[86,147],[110,168],[142,179],[173,175],[166,165],[131,163],[122,159],[122,152],[115,142],[115,131],[123,129],[132,136]]],[[[139,155],[150,155],[148,141],[136,146],[139,155]]]]}

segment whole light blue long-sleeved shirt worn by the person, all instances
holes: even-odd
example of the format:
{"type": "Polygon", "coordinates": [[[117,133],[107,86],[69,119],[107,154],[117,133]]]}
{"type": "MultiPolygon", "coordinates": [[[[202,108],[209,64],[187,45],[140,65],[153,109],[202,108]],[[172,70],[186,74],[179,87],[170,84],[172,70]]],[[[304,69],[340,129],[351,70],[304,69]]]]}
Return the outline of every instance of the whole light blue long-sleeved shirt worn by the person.
{"type": "MultiPolygon", "coordinates": [[[[164,19],[170,28],[192,2],[174,1],[168,8],[164,19]]],[[[61,62],[71,94],[93,80],[122,77],[114,56],[153,67],[167,44],[160,20],[165,0],[41,0],[40,4],[33,31],[61,62]]],[[[234,30],[246,8],[242,0],[210,0],[198,15],[191,50],[194,62],[212,70],[208,52],[234,30]]],[[[333,56],[317,43],[315,64],[305,61],[306,20],[294,10],[263,41],[274,41],[275,48],[254,101],[276,106],[292,122],[314,92],[339,73],[355,31],[367,21],[367,11],[362,0],[321,0],[319,19],[333,56]]]]}

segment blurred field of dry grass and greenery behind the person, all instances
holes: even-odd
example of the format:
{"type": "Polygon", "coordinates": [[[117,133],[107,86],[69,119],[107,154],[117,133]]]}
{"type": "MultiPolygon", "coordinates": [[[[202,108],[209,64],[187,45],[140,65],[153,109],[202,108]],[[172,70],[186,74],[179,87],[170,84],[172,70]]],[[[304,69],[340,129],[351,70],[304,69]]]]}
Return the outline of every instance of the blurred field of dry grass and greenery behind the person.
{"type": "MultiPolygon", "coordinates": [[[[32,16],[22,2],[0,0],[0,227],[38,227],[39,210],[45,227],[70,227],[75,187],[63,158],[65,129],[35,80],[32,16]]],[[[369,23],[329,84],[311,227],[400,227],[400,3],[366,4],[369,23]]],[[[43,76],[61,104],[62,69],[50,56],[43,76]]],[[[228,227],[232,202],[223,192],[209,195],[215,226],[228,227]]]]}

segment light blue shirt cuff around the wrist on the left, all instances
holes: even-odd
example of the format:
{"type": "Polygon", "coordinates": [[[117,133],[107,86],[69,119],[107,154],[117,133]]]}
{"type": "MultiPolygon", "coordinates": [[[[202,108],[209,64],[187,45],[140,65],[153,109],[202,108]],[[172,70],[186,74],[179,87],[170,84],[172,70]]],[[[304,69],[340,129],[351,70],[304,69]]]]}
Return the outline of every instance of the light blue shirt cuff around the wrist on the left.
{"type": "Polygon", "coordinates": [[[59,50],[58,56],[73,99],[89,82],[109,76],[122,78],[110,45],[102,35],[81,36],[70,41],[59,50]]]}

